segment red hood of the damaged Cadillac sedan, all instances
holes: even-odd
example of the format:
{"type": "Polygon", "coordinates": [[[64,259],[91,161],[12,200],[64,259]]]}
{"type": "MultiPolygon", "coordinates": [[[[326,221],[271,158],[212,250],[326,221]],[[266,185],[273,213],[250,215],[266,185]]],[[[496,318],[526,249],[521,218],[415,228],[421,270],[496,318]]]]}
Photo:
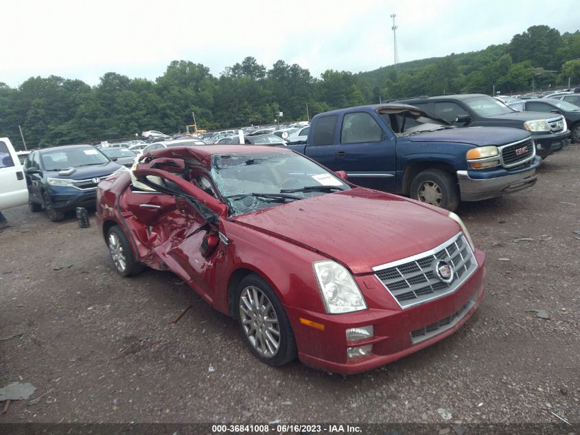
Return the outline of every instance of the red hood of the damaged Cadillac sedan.
{"type": "Polygon", "coordinates": [[[461,231],[446,213],[366,188],[243,214],[234,222],[320,252],[354,274],[425,252],[461,231]]]}

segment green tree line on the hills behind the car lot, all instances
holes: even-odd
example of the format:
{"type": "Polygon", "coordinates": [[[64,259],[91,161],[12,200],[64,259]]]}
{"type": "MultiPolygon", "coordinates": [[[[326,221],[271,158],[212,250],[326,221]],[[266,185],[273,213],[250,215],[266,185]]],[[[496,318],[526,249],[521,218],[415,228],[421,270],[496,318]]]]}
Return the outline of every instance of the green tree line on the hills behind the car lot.
{"type": "Polygon", "coordinates": [[[306,120],[361,104],[443,93],[516,93],[580,83],[580,31],[560,34],[529,27],[509,43],[353,74],[308,69],[278,60],[270,69],[248,56],[219,76],[187,60],[174,60],[156,80],[108,72],[91,87],[58,76],[31,77],[18,88],[0,82],[0,136],[23,148],[131,137],[146,130],[198,128],[306,120]]]}

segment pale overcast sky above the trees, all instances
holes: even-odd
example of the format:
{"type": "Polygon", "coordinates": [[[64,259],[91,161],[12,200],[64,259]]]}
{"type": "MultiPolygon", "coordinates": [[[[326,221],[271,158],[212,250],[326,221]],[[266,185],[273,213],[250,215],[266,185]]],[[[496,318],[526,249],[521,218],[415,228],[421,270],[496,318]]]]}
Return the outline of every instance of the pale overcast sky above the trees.
{"type": "Polygon", "coordinates": [[[97,85],[108,71],[154,80],[172,60],[218,76],[253,56],[369,71],[399,61],[507,43],[531,25],[580,28],[578,0],[2,0],[0,82],[51,74],[97,85]]]}

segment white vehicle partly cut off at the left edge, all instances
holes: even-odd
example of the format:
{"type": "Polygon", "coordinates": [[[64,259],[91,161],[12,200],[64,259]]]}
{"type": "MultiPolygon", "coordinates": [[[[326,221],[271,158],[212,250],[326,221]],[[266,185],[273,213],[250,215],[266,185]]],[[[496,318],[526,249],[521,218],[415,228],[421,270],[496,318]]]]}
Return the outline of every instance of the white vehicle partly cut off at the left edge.
{"type": "Polygon", "coordinates": [[[0,137],[0,210],[27,202],[28,189],[24,168],[8,137],[0,137]]]}

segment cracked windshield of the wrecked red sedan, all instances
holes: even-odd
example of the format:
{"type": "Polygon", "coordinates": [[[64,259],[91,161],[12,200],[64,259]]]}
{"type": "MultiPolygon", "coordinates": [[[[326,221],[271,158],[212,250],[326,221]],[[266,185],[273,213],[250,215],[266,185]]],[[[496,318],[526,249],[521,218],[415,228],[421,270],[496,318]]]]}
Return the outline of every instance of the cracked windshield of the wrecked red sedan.
{"type": "Polygon", "coordinates": [[[350,189],[336,175],[298,153],[213,155],[211,176],[234,216],[350,189]]]}

